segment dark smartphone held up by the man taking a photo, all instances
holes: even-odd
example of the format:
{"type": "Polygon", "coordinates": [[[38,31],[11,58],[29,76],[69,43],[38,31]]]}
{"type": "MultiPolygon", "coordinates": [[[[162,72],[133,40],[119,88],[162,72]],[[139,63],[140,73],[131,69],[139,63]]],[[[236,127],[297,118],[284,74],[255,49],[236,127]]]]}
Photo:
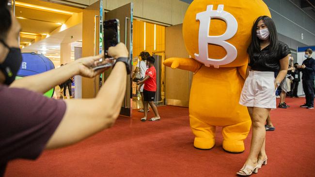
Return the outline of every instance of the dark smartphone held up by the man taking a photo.
{"type": "Polygon", "coordinates": [[[119,20],[106,20],[104,21],[104,52],[105,58],[110,58],[108,55],[108,49],[111,46],[115,46],[120,42],[119,36],[119,20]]]}

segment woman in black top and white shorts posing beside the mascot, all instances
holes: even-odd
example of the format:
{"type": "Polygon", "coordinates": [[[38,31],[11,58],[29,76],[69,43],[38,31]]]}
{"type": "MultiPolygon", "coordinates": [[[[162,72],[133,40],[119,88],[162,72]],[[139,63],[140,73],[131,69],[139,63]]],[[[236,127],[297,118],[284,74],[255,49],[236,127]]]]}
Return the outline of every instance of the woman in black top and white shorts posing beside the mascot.
{"type": "Polygon", "coordinates": [[[252,119],[250,154],[237,172],[241,176],[258,173],[267,164],[265,122],[270,109],[276,108],[276,88],[284,79],[289,66],[289,47],[278,41],[274,22],[260,16],[252,27],[252,42],[248,47],[249,64],[239,103],[247,106],[252,119]],[[279,71],[277,78],[274,72],[279,71]]]}

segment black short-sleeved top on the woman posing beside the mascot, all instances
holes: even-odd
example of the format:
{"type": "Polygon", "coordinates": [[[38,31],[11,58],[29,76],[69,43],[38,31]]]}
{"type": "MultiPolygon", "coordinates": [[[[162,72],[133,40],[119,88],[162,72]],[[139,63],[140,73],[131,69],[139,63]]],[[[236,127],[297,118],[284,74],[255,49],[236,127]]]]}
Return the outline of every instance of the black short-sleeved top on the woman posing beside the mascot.
{"type": "Polygon", "coordinates": [[[280,59],[291,53],[287,44],[279,41],[279,50],[270,52],[269,45],[258,53],[250,56],[249,66],[255,71],[278,72],[280,69],[280,59]]]}

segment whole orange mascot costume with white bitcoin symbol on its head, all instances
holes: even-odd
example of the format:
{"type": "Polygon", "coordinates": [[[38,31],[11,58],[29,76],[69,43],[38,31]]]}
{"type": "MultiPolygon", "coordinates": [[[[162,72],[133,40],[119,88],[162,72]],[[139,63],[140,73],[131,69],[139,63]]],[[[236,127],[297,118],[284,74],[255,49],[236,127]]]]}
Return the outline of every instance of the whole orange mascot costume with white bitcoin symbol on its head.
{"type": "Polygon", "coordinates": [[[271,16],[263,0],[194,0],[186,12],[183,36],[191,58],[170,58],[163,64],[194,73],[189,121],[195,148],[213,148],[220,126],[224,150],[245,149],[251,119],[238,101],[252,25],[261,15],[271,16]]]}

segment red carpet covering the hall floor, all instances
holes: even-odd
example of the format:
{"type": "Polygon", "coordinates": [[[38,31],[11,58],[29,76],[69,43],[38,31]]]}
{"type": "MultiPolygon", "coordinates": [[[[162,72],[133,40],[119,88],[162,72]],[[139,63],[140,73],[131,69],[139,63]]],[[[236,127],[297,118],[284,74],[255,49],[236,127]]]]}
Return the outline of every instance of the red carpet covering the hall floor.
{"type": "MultiPolygon", "coordinates": [[[[267,132],[268,165],[255,177],[315,176],[315,109],[299,108],[304,98],[287,99],[288,109],[271,111],[276,131],[267,132]]],[[[119,118],[113,128],[71,147],[45,151],[36,161],[10,162],[5,177],[233,177],[249,153],[221,148],[221,128],[211,150],[193,148],[188,109],[158,107],[161,120],[119,118]]],[[[209,113],[210,114],[210,113],[209,113]]],[[[152,116],[150,112],[149,116],[152,116]]]]}

